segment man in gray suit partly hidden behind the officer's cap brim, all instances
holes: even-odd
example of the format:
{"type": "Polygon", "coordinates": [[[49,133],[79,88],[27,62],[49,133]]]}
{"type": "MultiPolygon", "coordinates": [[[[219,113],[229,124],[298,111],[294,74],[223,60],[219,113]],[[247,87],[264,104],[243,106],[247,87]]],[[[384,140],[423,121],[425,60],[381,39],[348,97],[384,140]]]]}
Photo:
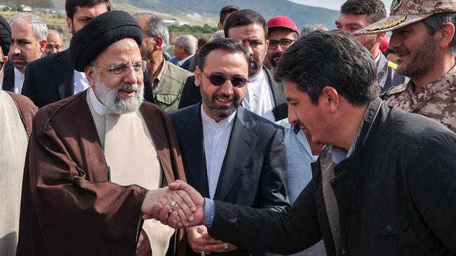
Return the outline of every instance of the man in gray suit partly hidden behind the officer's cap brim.
{"type": "MultiPolygon", "coordinates": [[[[379,20],[387,17],[387,10],[380,0],[348,0],[340,7],[340,15],[335,21],[337,29],[353,33],[379,20]]],[[[382,92],[386,92],[390,87],[407,83],[410,78],[396,73],[396,64],[389,62],[380,51],[380,42],[384,33],[375,35],[355,36],[375,59],[377,65],[377,82],[382,87],[382,92]]]]}

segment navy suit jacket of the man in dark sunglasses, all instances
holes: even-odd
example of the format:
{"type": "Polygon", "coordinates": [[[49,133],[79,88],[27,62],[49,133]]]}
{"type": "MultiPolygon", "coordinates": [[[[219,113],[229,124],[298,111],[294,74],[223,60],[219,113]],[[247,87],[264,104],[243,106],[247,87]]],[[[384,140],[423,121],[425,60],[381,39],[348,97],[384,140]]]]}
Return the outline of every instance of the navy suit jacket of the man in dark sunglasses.
{"type": "MultiPolygon", "coordinates": [[[[182,152],[187,182],[203,197],[209,197],[201,104],[174,111],[170,118],[182,152]]],[[[286,211],[290,206],[286,195],[286,161],[283,129],[239,107],[214,199],[286,211]]],[[[250,253],[234,250],[228,254],[250,253]]]]}

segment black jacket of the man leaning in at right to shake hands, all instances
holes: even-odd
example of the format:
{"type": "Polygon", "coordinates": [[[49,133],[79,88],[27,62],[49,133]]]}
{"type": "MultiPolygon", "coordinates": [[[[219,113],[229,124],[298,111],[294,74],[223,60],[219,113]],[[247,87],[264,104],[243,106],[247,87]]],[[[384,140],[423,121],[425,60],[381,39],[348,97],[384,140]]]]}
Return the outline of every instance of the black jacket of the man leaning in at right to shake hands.
{"type": "MultiPolygon", "coordinates": [[[[354,151],[330,180],[344,255],[455,255],[455,133],[380,99],[370,102],[362,124],[354,151]]],[[[327,152],[312,164],[312,180],[288,213],[215,201],[209,234],[281,254],[323,237],[328,256],[336,255],[321,176],[327,152]]]]}

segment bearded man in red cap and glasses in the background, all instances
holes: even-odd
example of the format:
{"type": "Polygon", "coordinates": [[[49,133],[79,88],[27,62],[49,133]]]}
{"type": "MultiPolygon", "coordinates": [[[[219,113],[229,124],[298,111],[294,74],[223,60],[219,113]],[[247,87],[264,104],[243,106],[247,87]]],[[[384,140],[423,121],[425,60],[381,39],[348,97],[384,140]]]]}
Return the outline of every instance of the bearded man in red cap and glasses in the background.
{"type": "Polygon", "coordinates": [[[274,70],[283,52],[297,40],[299,32],[297,31],[295,22],[289,17],[282,15],[271,17],[267,21],[267,28],[269,46],[267,48],[266,59],[264,59],[264,66],[274,70]]]}

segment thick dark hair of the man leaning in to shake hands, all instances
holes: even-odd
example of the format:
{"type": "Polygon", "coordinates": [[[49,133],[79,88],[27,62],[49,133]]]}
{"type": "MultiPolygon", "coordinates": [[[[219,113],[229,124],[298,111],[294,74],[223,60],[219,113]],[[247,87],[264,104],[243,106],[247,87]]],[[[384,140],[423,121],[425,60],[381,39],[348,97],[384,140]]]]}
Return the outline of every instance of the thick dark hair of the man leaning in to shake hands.
{"type": "Polygon", "coordinates": [[[314,31],[282,55],[276,79],[296,83],[317,104],[329,85],[350,104],[362,106],[380,92],[377,68],[370,52],[344,31],[314,31]]]}

